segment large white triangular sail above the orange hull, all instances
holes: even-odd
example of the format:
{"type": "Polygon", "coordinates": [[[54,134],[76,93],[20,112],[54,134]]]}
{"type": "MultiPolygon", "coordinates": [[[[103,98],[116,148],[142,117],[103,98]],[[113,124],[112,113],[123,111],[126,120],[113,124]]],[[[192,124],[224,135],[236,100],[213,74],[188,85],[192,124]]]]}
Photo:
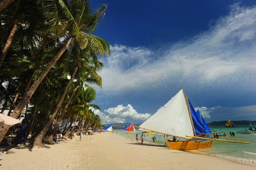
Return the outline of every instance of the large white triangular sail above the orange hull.
{"type": "Polygon", "coordinates": [[[183,90],[181,89],[140,127],[184,138],[189,138],[186,135],[194,135],[183,90]]]}

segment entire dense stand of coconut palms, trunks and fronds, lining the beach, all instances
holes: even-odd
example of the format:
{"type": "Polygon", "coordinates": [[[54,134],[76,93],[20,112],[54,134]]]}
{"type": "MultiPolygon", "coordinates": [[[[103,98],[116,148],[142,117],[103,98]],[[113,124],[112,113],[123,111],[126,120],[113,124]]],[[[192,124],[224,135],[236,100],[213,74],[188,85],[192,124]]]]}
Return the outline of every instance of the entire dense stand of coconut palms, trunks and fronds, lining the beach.
{"type": "MultiPolygon", "coordinates": [[[[98,56],[109,55],[109,44],[93,32],[106,10],[106,4],[92,9],[84,0],[17,0],[1,6],[1,111],[14,119],[24,114],[34,145],[52,141],[59,127],[70,132],[76,121],[79,128],[102,127],[90,109],[100,109],[90,85],[102,88],[98,72],[104,65],[98,56]]],[[[0,142],[9,128],[4,125],[0,142]]]]}

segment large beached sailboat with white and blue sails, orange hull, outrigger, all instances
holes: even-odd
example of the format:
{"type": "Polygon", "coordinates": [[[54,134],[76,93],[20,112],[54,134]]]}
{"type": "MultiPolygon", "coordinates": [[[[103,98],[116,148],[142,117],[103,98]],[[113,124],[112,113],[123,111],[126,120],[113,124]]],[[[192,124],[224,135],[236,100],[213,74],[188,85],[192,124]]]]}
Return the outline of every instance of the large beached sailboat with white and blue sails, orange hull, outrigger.
{"type": "Polygon", "coordinates": [[[148,120],[142,123],[140,128],[159,134],[172,135],[172,141],[166,140],[171,150],[211,148],[212,141],[247,143],[212,139],[211,129],[200,112],[195,111],[183,88],[148,120]],[[179,141],[177,141],[177,138],[179,138],[179,141]]]}

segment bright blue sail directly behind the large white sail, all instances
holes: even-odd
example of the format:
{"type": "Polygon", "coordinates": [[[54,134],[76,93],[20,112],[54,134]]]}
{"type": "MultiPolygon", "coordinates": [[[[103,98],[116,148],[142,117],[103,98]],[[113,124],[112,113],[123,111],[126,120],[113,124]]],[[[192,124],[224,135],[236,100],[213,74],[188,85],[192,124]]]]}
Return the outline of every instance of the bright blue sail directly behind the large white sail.
{"type": "Polygon", "coordinates": [[[188,100],[189,102],[189,108],[190,108],[190,112],[191,112],[191,116],[192,116],[192,120],[193,120],[193,125],[195,128],[195,133],[196,135],[200,135],[200,134],[211,134],[211,130],[208,127],[207,123],[205,122],[204,118],[202,117],[202,115],[200,114],[200,112],[196,112],[194,107],[192,106],[191,102],[188,100]]]}

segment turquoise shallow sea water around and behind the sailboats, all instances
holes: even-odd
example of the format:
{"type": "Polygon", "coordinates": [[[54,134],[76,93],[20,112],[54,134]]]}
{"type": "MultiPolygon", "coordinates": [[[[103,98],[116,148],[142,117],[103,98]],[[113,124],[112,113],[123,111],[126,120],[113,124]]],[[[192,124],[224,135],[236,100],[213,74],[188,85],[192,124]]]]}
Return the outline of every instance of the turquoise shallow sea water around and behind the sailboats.
{"type": "MultiPolygon", "coordinates": [[[[207,148],[204,150],[200,150],[201,153],[205,153],[208,155],[214,155],[216,157],[225,158],[234,162],[239,162],[243,164],[251,164],[256,166],[256,134],[239,134],[240,130],[245,130],[248,126],[236,126],[232,128],[228,128],[225,126],[211,126],[212,132],[218,132],[227,135],[227,139],[230,141],[247,141],[250,144],[241,144],[241,143],[226,143],[226,142],[216,142],[212,143],[212,148],[207,148]],[[234,137],[230,136],[229,132],[234,132],[236,135],[234,137]]],[[[124,130],[115,130],[116,134],[124,135],[126,137],[131,137],[135,142],[136,133],[127,134],[124,130]]],[[[141,131],[137,130],[139,137],[141,135],[141,131]]],[[[154,134],[157,138],[157,144],[165,143],[163,134],[154,134]]],[[[152,143],[152,139],[150,139],[152,135],[145,135],[144,140],[148,143],[152,143]]],[[[170,138],[172,139],[172,138],[170,138]]],[[[224,137],[220,137],[219,139],[225,139],[224,137]]]]}

